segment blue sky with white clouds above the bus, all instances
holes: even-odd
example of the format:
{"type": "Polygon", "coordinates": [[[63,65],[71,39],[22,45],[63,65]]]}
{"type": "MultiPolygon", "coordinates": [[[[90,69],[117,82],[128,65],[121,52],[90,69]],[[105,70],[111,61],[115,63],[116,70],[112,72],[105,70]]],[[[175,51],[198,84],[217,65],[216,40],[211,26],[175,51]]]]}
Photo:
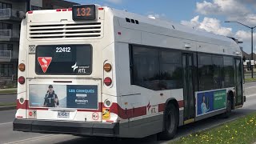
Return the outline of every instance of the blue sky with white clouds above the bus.
{"type": "MultiPolygon", "coordinates": [[[[256,26],[256,0],[69,0],[80,4],[99,4],[119,10],[127,10],[145,16],[167,19],[182,25],[238,38],[239,44],[247,53],[251,53],[250,29],[256,26]]],[[[256,29],[254,51],[256,53],[256,29]]]]}

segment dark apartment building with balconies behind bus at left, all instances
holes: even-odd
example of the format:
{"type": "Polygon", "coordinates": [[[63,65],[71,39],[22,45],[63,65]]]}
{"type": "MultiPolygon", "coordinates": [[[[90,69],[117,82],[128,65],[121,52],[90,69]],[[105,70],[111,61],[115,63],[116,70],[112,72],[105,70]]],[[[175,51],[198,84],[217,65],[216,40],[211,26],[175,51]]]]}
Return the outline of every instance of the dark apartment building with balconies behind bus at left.
{"type": "Polygon", "coordinates": [[[63,0],[0,0],[0,82],[16,82],[21,18],[18,11],[72,7],[63,0]]]}

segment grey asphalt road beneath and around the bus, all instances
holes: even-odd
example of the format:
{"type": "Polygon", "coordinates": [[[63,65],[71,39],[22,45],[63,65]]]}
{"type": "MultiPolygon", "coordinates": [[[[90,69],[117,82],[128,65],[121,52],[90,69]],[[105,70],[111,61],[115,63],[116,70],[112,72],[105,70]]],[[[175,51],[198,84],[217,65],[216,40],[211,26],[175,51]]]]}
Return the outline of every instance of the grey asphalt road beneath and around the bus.
{"type": "MultiPolygon", "coordinates": [[[[234,120],[234,118],[239,118],[243,115],[250,114],[253,111],[256,111],[256,82],[246,83],[246,95],[249,95],[246,98],[246,103],[242,109],[234,110],[230,118],[207,118],[205,120],[195,122],[186,126],[181,126],[178,129],[178,134],[176,138],[180,138],[186,134],[198,130],[204,130],[212,126],[218,126],[223,122],[228,122],[234,120]],[[250,92],[250,93],[249,93],[250,92]]],[[[94,144],[113,144],[113,143],[133,143],[133,144],[163,144],[167,143],[165,141],[157,141],[156,136],[150,136],[148,138],[142,139],[110,139],[110,138],[81,138],[74,137],[72,135],[65,134],[32,134],[32,133],[23,133],[12,130],[12,121],[14,119],[15,110],[6,110],[0,111],[0,143],[53,143],[53,144],[72,144],[72,143],[94,143],[94,144]]]]}

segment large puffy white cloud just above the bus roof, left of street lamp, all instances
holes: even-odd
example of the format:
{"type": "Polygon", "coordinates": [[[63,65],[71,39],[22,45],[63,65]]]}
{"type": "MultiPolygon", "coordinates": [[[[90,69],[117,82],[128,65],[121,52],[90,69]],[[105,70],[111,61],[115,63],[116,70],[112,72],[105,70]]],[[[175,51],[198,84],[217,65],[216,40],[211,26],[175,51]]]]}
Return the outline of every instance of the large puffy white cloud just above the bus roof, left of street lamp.
{"type": "Polygon", "coordinates": [[[221,26],[221,22],[216,18],[203,18],[202,22],[199,21],[199,16],[192,18],[190,21],[182,21],[182,25],[193,27],[198,30],[206,30],[214,34],[225,36],[232,35],[232,29],[221,26]]]}

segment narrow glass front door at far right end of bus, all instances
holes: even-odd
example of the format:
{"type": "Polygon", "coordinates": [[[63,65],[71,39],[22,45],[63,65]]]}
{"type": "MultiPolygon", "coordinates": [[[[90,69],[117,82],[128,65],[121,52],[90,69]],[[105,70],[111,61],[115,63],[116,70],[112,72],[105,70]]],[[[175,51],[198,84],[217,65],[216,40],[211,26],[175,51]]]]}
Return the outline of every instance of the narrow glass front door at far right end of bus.
{"type": "Polygon", "coordinates": [[[242,105],[242,62],[234,58],[235,106],[242,105]]]}

